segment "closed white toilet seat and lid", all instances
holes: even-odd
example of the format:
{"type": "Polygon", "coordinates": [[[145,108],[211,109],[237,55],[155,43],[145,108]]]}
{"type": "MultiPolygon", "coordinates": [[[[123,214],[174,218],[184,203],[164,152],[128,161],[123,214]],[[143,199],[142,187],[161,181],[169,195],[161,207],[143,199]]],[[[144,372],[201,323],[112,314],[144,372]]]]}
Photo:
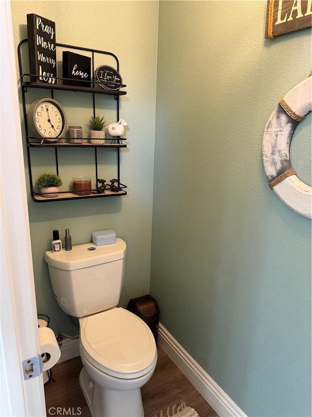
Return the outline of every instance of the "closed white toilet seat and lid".
{"type": "Polygon", "coordinates": [[[121,307],[80,319],[80,353],[98,370],[122,379],[148,373],[157,360],[152,331],[121,307]]]}

